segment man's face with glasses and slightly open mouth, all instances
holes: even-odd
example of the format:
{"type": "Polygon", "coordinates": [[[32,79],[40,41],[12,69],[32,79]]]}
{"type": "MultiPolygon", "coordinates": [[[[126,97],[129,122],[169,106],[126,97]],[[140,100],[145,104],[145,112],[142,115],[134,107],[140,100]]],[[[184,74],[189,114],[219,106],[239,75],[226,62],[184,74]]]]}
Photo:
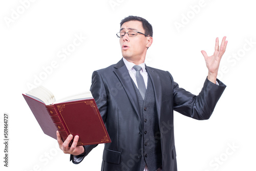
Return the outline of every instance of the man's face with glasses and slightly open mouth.
{"type": "MultiPolygon", "coordinates": [[[[133,20],[130,22],[124,23],[120,32],[129,32],[129,31],[138,31],[141,33],[145,33],[142,23],[133,20]]],[[[120,47],[122,51],[122,56],[129,61],[138,61],[145,60],[146,50],[148,46],[148,37],[143,34],[138,33],[137,36],[129,37],[127,33],[120,38],[120,47]]]]}

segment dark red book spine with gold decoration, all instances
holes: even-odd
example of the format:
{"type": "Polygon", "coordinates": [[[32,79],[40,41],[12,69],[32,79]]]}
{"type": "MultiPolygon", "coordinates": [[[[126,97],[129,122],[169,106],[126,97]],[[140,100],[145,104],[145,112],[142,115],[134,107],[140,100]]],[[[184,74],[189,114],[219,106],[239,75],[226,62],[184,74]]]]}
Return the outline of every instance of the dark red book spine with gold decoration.
{"type": "MultiPolygon", "coordinates": [[[[56,108],[55,105],[46,105],[46,109],[53,121],[53,123],[55,124],[62,141],[64,142],[67,137],[69,136],[70,132],[65,124],[65,122],[63,121],[61,115],[58,112],[58,109],[56,108]]],[[[73,141],[70,142],[70,146],[72,144],[73,141]]]]}

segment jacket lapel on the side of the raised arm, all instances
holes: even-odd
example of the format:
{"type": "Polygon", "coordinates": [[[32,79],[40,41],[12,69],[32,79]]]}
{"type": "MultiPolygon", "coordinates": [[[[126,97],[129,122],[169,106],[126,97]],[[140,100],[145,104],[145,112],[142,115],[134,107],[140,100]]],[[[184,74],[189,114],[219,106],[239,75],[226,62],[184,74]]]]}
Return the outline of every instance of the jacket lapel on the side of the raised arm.
{"type": "Polygon", "coordinates": [[[158,115],[158,121],[160,121],[160,109],[161,109],[161,103],[162,103],[162,87],[161,87],[161,80],[159,75],[150,67],[146,66],[146,71],[148,77],[150,77],[153,89],[155,93],[155,99],[156,99],[156,106],[157,106],[157,115],[158,115]]]}

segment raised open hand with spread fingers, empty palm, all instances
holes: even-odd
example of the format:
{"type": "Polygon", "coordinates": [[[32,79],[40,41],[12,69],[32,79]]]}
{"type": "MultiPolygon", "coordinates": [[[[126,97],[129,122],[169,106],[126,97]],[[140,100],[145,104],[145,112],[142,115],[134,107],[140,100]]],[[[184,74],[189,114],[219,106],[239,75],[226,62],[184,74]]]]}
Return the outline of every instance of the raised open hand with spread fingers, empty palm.
{"type": "Polygon", "coordinates": [[[206,67],[208,68],[208,79],[211,82],[216,83],[220,61],[221,61],[222,55],[226,51],[226,47],[227,47],[226,36],[223,37],[220,48],[219,48],[219,38],[217,37],[216,43],[215,43],[215,51],[213,55],[208,56],[205,51],[201,51],[206,62],[206,67]]]}

